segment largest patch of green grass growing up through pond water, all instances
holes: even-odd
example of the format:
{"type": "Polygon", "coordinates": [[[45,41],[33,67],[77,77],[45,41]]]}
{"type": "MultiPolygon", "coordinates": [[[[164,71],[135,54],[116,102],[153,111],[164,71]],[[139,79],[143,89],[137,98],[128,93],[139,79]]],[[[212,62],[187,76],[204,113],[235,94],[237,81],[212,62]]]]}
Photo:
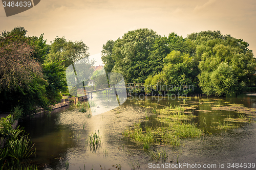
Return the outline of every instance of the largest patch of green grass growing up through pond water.
{"type": "Polygon", "coordinates": [[[196,116],[184,112],[183,106],[170,104],[158,111],[157,120],[161,123],[158,127],[143,127],[141,124],[135,124],[133,128],[124,131],[123,135],[142,144],[145,151],[149,151],[154,143],[177,147],[181,144],[181,138],[200,137],[204,134],[196,124],[190,123],[196,116]]]}

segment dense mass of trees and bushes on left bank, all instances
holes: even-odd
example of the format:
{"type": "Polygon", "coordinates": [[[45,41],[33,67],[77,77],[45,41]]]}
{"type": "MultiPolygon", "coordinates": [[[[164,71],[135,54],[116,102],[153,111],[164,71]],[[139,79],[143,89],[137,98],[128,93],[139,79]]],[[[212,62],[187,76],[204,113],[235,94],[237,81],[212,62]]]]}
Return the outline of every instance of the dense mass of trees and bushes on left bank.
{"type": "Polygon", "coordinates": [[[82,41],[56,37],[48,45],[43,34],[26,34],[16,27],[0,35],[0,112],[17,106],[23,116],[38,108],[50,110],[62,98],[60,92],[67,91],[66,67],[89,55],[82,41]]]}

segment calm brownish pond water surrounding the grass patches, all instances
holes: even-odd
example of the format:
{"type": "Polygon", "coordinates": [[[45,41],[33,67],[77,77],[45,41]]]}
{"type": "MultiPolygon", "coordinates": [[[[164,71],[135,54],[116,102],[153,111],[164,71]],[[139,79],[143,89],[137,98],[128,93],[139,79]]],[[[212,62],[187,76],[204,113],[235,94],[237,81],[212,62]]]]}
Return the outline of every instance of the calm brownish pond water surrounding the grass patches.
{"type": "MultiPolygon", "coordinates": [[[[101,94],[96,94],[93,101],[97,101],[101,94]]],[[[102,96],[101,96],[102,97],[102,96]]],[[[114,99],[114,98],[113,98],[114,99]]],[[[110,102],[111,101],[102,101],[110,102]]],[[[35,116],[32,120],[25,120],[22,126],[30,133],[31,140],[36,146],[36,158],[32,162],[40,166],[40,169],[131,169],[129,164],[139,165],[140,169],[150,169],[149,163],[164,164],[169,166],[177,162],[188,164],[224,164],[228,169],[228,163],[256,163],[256,124],[255,118],[251,123],[232,123],[239,128],[231,130],[218,130],[218,126],[224,118],[231,116],[236,118],[238,113],[232,111],[212,110],[212,106],[227,106],[229,103],[243,104],[245,107],[256,108],[256,96],[241,95],[238,98],[190,98],[187,100],[168,98],[152,98],[140,101],[138,98],[127,99],[120,107],[108,111],[111,108],[102,107],[100,104],[92,108],[93,116],[88,118],[85,113],[69,107],[55,110],[51,116],[43,114],[35,116]],[[207,100],[209,99],[209,100],[207,100]],[[228,103],[227,103],[228,102],[228,103]],[[127,140],[122,132],[134,123],[145,122],[145,114],[150,114],[152,109],[161,109],[164,106],[183,105],[193,106],[189,112],[197,115],[193,121],[206,134],[200,138],[182,139],[181,147],[172,148],[168,145],[153,145],[153,150],[165,149],[168,159],[164,162],[151,160],[149,154],[142,150],[142,146],[127,140]],[[101,114],[96,111],[99,107],[101,114]],[[104,112],[108,111],[108,112],[104,112]],[[210,112],[207,112],[208,110],[210,112]],[[97,113],[97,114],[96,114],[97,113]],[[101,145],[98,148],[90,148],[87,141],[89,135],[99,130],[101,145]],[[113,166],[115,165],[115,166],[113,166]]],[[[111,108],[113,109],[113,108],[111,108]]],[[[148,125],[157,124],[155,115],[150,116],[148,125]]],[[[231,123],[230,123],[231,124],[231,123]]],[[[154,168],[152,168],[154,169],[154,168]]],[[[158,168],[159,169],[159,168],[158,168]]],[[[173,168],[170,168],[173,169],[173,168]]],[[[174,169],[189,169],[187,166],[174,169]]],[[[191,168],[193,169],[193,168],[191,168]]],[[[198,169],[198,168],[194,168],[198,169]]],[[[229,168],[230,169],[230,168],[229,168]]],[[[231,169],[252,169],[232,168],[231,169]]]]}

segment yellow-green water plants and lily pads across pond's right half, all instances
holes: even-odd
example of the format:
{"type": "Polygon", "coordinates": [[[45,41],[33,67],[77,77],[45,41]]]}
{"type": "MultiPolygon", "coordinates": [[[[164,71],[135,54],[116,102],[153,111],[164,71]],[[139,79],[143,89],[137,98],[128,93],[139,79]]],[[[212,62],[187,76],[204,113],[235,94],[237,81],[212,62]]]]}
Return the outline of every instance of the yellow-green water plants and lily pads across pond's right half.
{"type": "MultiPolygon", "coordinates": [[[[151,108],[151,116],[145,113],[143,120],[127,127],[126,130],[122,132],[122,135],[127,140],[136,142],[141,149],[151,156],[152,160],[158,162],[168,158],[164,147],[172,147],[175,149],[184,144],[182,140],[185,138],[200,138],[204,135],[212,135],[208,128],[202,128],[198,124],[199,122],[195,123],[195,118],[198,118],[198,116],[193,114],[191,110],[204,113],[210,113],[211,110],[237,113],[237,115],[229,114],[226,118],[223,118],[223,120],[211,123],[209,128],[212,130],[226,131],[255,122],[255,108],[247,108],[243,106],[243,104],[232,104],[229,102],[223,102],[227,106],[214,105],[213,103],[216,101],[222,101],[218,99],[200,99],[198,97],[195,97],[195,99],[198,99],[199,102],[189,101],[191,100],[191,97],[189,97],[183,100],[182,104],[173,105],[170,103],[169,106],[162,106],[161,109],[157,110],[157,106],[161,107],[160,104],[156,103],[155,108],[151,108],[147,107],[143,100],[138,101],[137,105],[151,108]],[[210,106],[210,110],[196,110],[198,105],[194,105],[195,103],[199,105],[206,104],[210,106]],[[161,150],[161,148],[159,149],[158,147],[156,150],[155,147],[157,145],[161,145],[163,149],[161,150]]],[[[207,127],[205,119],[200,121],[207,127]]]]}

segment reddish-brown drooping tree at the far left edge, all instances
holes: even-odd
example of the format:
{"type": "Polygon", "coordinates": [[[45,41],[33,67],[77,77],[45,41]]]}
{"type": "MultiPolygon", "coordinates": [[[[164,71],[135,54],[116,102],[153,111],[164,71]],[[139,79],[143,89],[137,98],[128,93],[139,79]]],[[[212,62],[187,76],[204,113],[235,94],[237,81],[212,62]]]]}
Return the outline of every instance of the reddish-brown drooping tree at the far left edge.
{"type": "Polygon", "coordinates": [[[10,110],[20,104],[26,114],[36,107],[48,109],[46,86],[34,46],[24,28],[14,28],[0,36],[0,108],[10,110]]]}

